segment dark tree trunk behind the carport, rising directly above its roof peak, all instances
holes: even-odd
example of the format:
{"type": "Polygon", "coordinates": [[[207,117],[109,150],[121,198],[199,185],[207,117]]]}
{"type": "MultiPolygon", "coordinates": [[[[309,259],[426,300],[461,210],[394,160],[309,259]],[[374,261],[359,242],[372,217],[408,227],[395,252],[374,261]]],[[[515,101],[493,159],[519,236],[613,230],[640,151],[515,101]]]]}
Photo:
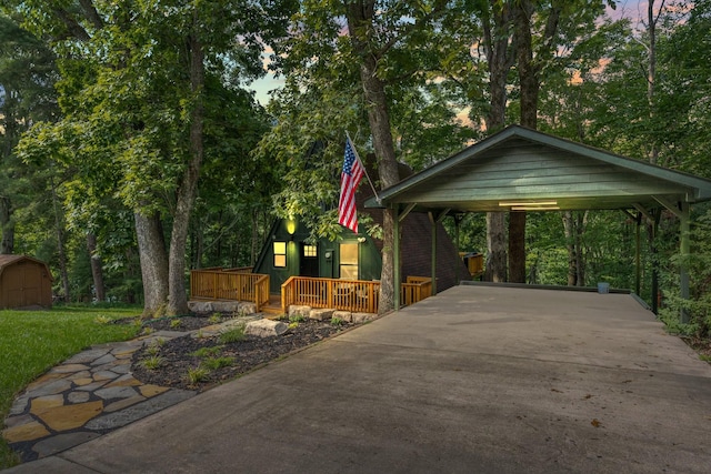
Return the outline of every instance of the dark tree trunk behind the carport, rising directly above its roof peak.
{"type": "MultiPolygon", "coordinates": [[[[487,112],[487,132],[493,133],[505,124],[507,78],[513,65],[511,48],[511,7],[491,0],[491,10],[482,19],[484,28],[484,51],[489,63],[489,100],[487,112]]],[[[507,281],[507,238],[505,214],[487,213],[487,268],[484,280],[507,281]]]]}

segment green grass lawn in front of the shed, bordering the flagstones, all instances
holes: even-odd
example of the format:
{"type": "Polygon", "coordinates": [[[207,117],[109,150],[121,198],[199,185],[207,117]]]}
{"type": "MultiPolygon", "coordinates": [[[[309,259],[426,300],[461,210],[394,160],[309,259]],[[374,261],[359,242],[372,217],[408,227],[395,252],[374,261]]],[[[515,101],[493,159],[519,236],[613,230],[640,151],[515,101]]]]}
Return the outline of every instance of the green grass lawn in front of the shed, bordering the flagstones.
{"type": "MultiPolygon", "coordinates": [[[[110,341],[133,337],[137,324],[110,324],[133,317],[140,307],[56,306],[50,311],[0,311],[0,421],[30,382],[71,355],[110,341]]],[[[0,470],[17,463],[0,441],[0,470]]]]}

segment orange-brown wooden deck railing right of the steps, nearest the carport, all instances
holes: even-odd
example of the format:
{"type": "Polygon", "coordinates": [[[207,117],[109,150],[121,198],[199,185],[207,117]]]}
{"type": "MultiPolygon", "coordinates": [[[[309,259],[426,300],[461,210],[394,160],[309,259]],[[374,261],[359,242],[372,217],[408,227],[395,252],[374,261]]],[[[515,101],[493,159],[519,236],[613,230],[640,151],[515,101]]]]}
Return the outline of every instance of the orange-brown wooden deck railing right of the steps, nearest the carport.
{"type": "MultiPolygon", "coordinates": [[[[408,276],[401,288],[402,305],[414,304],[432,295],[432,280],[429,278],[408,276]]],[[[377,281],[291,276],[281,285],[281,309],[286,313],[289,305],[298,304],[377,313],[379,291],[380,282],[377,281]]]]}

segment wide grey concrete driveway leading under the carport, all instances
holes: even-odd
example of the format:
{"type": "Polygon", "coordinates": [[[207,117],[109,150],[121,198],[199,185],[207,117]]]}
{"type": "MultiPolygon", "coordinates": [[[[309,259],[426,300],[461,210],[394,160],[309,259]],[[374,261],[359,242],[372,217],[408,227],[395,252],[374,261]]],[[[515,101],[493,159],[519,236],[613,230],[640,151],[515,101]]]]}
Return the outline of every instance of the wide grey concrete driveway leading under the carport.
{"type": "Polygon", "coordinates": [[[711,365],[632,296],[458,286],[16,472],[711,470],[711,365]]]}

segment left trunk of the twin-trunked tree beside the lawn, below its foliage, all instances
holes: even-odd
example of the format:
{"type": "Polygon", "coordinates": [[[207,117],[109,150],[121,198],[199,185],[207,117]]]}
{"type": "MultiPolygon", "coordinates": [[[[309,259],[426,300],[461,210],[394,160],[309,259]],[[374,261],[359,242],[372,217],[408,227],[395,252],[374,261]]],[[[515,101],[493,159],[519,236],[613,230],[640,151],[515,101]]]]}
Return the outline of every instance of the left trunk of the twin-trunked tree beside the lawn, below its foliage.
{"type": "Polygon", "coordinates": [[[164,315],[168,303],[168,254],[158,213],[133,214],[136,236],[143,279],[143,314],[141,317],[164,315]]]}

